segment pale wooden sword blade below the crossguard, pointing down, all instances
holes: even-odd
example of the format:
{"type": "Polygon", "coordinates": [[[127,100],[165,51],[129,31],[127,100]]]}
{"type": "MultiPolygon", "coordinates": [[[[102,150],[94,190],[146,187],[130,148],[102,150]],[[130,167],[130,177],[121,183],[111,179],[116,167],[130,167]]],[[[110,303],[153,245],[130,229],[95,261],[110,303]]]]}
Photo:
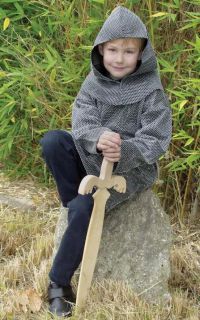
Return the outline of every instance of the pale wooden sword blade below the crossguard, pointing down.
{"type": "Polygon", "coordinates": [[[92,210],[83,251],[76,299],[76,306],[79,309],[83,308],[83,306],[85,305],[87,294],[92,282],[101,241],[105,205],[109,197],[110,193],[107,191],[107,189],[99,189],[93,195],[94,207],[92,210]]]}

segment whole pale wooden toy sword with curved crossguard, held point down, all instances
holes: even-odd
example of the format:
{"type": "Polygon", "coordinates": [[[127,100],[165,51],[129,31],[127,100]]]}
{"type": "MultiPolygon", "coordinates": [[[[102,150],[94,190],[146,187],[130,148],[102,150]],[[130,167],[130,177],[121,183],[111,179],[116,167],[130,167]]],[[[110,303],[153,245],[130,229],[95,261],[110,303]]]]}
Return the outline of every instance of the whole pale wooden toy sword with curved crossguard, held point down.
{"type": "Polygon", "coordinates": [[[126,180],[124,177],[113,175],[113,163],[103,159],[100,176],[87,175],[83,178],[79,186],[79,194],[91,193],[96,187],[97,191],[93,194],[94,207],[92,210],[90,223],[85,240],[83,258],[79,276],[76,307],[82,309],[85,305],[88,291],[93,278],[96,259],[98,255],[103,221],[105,215],[105,206],[110,193],[108,189],[114,188],[120,193],[126,191],[126,180]]]}

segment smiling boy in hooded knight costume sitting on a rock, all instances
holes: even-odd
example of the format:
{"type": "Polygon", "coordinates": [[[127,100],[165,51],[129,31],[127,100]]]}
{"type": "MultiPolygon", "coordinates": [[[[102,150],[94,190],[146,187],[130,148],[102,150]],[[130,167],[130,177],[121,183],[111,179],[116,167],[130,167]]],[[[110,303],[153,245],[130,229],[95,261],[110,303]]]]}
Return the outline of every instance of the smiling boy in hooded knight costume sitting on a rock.
{"type": "Polygon", "coordinates": [[[99,175],[103,157],[114,163],[115,174],[127,181],[127,191],[111,192],[108,211],[153,184],[156,161],[171,138],[171,111],[139,17],[117,7],[95,40],[91,61],[92,70],[74,103],[72,133],[55,130],[41,140],[44,159],[68,208],[68,228],[49,274],[48,291],[50,311],[66,317],[75,301],[70,281],[82,259],[93,207],[91,195],[78,195],[81,179],[99,175]]]}

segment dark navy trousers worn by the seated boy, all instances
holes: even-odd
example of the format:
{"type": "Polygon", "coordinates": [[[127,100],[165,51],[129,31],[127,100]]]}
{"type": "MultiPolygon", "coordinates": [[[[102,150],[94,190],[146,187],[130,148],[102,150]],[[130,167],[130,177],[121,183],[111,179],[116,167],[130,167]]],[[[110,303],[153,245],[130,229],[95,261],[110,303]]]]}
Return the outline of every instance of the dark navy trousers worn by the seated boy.
{"type": "Polygon", "coordinates": [[[71,135],[62,130],[49,131],[40,143],[43,158],[56,181],[62,204],[69,208],[68,227],[49,273],[52,281],[65,286],[70,283],[82,260],[93,197],[91,194],[78,194],[79,184],[86,171],[71,135]]]}

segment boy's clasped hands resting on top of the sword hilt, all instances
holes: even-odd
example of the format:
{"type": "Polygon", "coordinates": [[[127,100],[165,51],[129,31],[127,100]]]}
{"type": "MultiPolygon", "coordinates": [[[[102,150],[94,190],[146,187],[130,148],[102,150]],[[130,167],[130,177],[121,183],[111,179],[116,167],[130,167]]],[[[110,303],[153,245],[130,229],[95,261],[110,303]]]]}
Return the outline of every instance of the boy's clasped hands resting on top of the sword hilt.
{"type": "Polygon", "coordinates": [[[116,132],[105,131],[99,138],[97,149],[111,162],[118,162],[121,157],[121,138],[116,132]]]}

